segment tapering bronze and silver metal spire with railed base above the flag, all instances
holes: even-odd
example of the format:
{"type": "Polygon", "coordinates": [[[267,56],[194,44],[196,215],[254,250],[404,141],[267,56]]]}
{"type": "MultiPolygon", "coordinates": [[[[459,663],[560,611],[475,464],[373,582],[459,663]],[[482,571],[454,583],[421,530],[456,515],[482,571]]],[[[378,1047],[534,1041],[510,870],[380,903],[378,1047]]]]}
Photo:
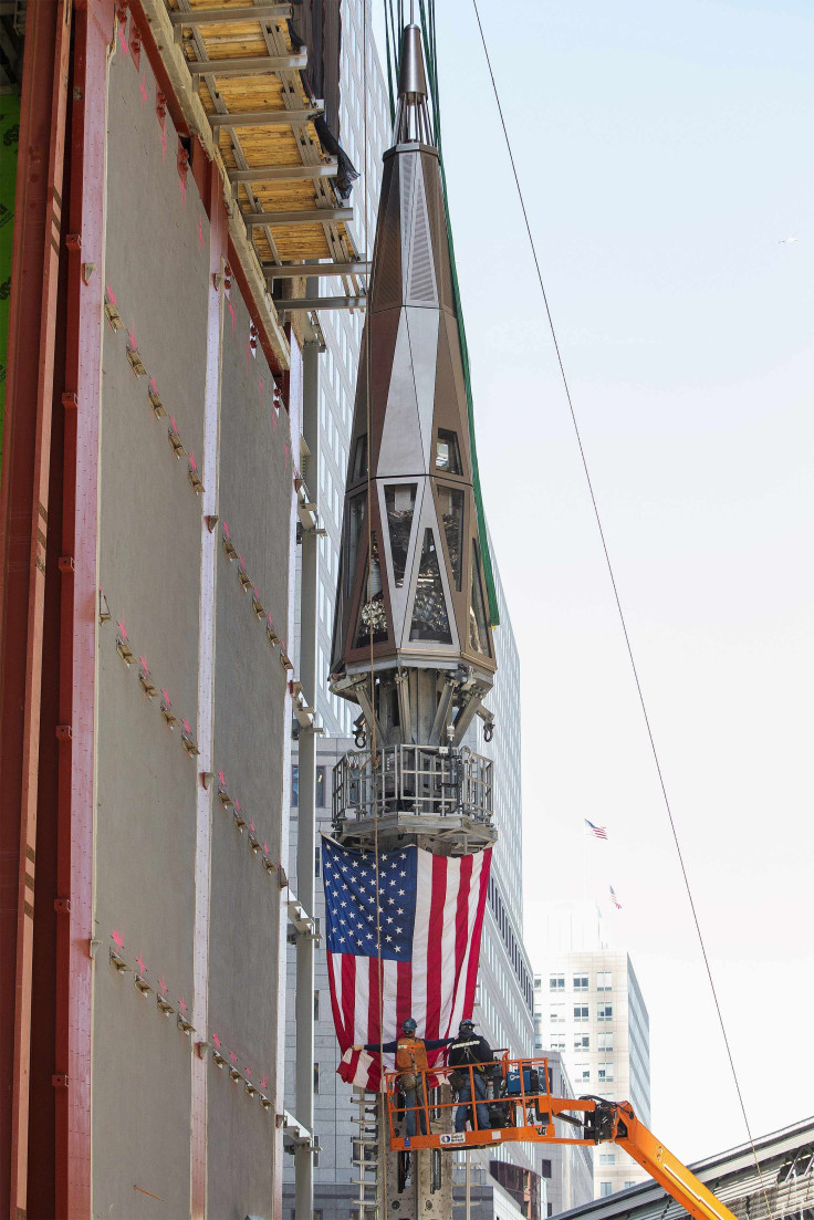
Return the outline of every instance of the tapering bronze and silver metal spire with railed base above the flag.
{"type": "Polygon", "coordinates": [[[494,839],[492,764],[464,747],[495,670],[438,150],[405,27],[344,505],[331,689],[361,710],[334,825],[443,854],[494,839]],[[366,749],[370,745],[370,749],[366,749]],[[427,838],[427,836],[430,838],[427,838]]]}

